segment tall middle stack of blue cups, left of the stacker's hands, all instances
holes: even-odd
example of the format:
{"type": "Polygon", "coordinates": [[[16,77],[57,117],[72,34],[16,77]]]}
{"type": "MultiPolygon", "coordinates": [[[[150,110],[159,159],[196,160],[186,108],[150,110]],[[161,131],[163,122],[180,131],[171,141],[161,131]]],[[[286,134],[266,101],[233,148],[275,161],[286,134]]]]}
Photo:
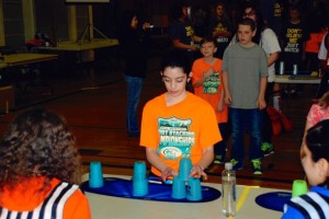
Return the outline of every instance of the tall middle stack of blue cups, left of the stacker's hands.
{"type": "Polygon", "coordinates": [[[144,161],[136,161],[134,163],[133,195],[146,196],[147,194],[148,180],[146,176],[146,163],[144,161]]]}

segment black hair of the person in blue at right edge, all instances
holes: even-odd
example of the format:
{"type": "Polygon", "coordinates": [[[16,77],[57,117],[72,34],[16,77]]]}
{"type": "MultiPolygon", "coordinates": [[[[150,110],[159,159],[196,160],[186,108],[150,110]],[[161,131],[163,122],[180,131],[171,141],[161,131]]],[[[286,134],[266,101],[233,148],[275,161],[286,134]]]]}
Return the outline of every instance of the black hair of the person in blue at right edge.
{"type": "Polygon", "coordinates": [[[308,129],[306,145],[314,162],[319,159],[326,159],[329,162],[329,119],[321,120],[308,129]]]}

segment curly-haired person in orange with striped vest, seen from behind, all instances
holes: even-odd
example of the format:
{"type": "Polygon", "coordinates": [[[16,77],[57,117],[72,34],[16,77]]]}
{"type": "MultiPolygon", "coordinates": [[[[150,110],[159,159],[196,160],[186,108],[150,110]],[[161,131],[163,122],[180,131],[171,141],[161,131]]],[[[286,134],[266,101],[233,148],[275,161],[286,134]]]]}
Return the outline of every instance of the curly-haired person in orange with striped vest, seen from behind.
{"type": "Polygon", "coordinates": [[[27,110],[14,118],[0,142],[0,218],[91,218],[75,145],[53,112],[27,110]]]}

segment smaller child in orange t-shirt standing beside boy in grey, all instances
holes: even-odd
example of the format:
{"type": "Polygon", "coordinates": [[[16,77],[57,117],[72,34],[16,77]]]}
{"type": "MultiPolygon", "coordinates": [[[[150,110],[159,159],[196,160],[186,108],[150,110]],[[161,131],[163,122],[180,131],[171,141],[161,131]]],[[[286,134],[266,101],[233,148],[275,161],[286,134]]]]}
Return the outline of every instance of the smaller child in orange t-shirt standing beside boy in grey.
{"type": "Polygon", "coordinates": [[[203,58],[194,61],[192,67],[192,83],[195,95],[207,101],[214,108],[223,140],[215,143],[214,163],[224,163],[227,140],[227,106],[224,103],[224,87],[222,74],[222,59],[215,58],[216,41],[212,37],[203,38],[200,48],[203,58]]]}

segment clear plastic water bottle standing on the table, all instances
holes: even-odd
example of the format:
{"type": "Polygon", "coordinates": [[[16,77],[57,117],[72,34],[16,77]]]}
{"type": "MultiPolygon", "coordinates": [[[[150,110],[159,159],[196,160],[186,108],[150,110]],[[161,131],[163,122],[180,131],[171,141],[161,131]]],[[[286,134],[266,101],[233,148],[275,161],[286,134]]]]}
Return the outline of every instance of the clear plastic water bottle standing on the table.
{"type": "Polygon", "coordinates": [[[222,172],[223,215],[230,217],[236,215],[236,172],[231,170],[231,163],[225,163],[222,172]]]}

